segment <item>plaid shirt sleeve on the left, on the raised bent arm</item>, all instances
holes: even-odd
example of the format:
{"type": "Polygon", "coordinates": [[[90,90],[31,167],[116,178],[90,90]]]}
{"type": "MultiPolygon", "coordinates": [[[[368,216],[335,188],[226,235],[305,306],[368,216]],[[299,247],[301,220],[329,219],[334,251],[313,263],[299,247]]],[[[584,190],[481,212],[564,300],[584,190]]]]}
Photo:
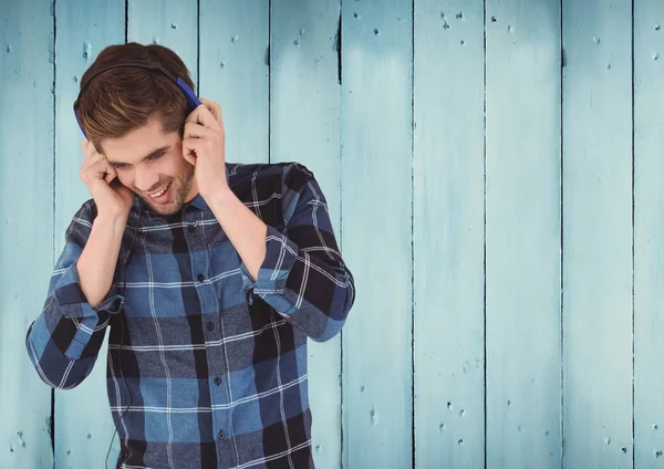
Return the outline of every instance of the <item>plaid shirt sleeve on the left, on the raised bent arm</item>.
{"type": "Polygon", "coordinates": [[[25,334],[28,355],[40,378],[59,389],[73,388],[87,377],[110,315],[118,313],[124,303],[116,286],[94,308],[81,290],[76,265],[96,211],[91,204],[85,202],[73,217],[51,274],[44,306],[25,334]]]}

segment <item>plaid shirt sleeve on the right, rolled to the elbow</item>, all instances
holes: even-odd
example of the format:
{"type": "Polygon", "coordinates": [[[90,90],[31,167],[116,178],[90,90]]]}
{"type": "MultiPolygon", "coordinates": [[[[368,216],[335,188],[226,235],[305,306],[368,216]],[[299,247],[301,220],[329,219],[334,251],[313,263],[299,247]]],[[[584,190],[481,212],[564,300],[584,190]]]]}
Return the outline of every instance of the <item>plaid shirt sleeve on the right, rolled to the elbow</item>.
{"type": "Polygon", "coordinates": [[[341,330],[353,305],[353,275],[313,174],[297,163],[286,166],[281,194],[286,233],[268,225],[256,281],[241,263],[245,292],[250,303],[259,296],[309,337],[324,342],[341,330]]]}

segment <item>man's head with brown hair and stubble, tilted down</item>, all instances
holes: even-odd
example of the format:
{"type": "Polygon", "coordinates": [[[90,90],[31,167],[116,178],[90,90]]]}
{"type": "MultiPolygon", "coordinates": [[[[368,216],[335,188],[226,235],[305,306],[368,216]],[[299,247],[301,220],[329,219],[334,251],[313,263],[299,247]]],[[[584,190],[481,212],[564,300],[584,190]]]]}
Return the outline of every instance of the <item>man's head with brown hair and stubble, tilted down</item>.
{"type": "MultiPolygon", "coordinates": [[[[122,60],[159,63],[194,90],[175,52],[135,42],[104,49],[81,83],[100,67],[122,60]]],[[[197,194],[194,167],[181,152],[186,117],[181,91],[167,76],[141,67],[104,72],[79,97],[79,121],[97,152],[117,170],[124,186],[162,215],[175,213],[197,194]]]]}

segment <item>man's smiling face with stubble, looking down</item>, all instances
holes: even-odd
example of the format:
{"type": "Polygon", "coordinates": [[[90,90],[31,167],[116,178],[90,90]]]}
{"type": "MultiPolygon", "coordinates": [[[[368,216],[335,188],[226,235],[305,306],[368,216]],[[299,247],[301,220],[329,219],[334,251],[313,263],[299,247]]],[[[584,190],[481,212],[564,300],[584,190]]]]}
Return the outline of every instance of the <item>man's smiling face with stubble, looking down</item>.
{"type": "Polygon", "coordinates": [[[163,133],[156,117],[124,137],[103,139],[102,148],[123,186],[160,215],[177,212],[198,192],[178,133],[163,133]]]}

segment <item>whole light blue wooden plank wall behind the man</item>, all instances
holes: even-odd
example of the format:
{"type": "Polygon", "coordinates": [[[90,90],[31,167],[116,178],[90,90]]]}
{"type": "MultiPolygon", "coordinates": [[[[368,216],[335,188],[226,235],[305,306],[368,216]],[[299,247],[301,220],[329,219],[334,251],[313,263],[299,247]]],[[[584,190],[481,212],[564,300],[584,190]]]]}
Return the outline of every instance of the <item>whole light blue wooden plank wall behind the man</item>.
{"type": "Polygon", "coordinates": [[[106,354],[52,396],[23,341],[125,41],[183,58],[229,161],[325,191],[357,299],[310,345],[317,467],[664,467],[660,0],[0,3],[0,468],[108,450],[106,354]]]}

